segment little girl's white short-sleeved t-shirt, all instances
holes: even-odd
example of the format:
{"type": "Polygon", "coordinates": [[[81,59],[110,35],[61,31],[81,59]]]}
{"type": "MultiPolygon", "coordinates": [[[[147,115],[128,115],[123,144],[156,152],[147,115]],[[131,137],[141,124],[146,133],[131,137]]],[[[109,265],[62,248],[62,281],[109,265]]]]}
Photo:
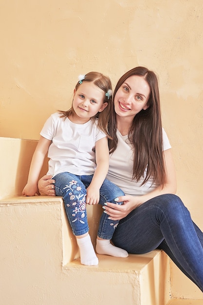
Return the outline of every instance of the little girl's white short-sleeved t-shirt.
{"type": "Polygon", "coordinates": [[[48,175],[71,172],[76,175],[91,175],[96,168],[96,141],[105,137],[97,127],[97,120],[85,124],[75,124],[69,118],[52,114],[45,122],[40,135],[52,140],[49,147],[48,175]]]}

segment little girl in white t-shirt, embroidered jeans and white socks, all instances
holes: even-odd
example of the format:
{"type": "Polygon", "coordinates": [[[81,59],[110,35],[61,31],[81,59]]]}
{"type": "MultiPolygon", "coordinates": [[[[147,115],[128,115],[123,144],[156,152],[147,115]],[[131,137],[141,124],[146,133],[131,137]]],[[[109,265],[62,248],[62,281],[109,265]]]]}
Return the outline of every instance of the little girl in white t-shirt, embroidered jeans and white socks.
{"type": "MultiPolygon", "coordinates": [[[[109,169],[109,149],[107,126],[103,126],[103,121],[109,112],[111,94],[108,76],[97,72],[79,76],[71,109],[52,114],[42,128],[28,182],[22,191],[25,196],[36,194],[38,176],[48,152],[47,174],[55,180],[56,195],[63,196],[66,214],[80,250],[81,264],[89,266],[98,265],[98,258],[89,235],[86,204],[118,204],[114,198],[124,195],[105,179],[109,169]]],[[[102,213],[96,251],[127,257],[127,251],[110,243],[118,221],[108,217],[102,213]]]]}

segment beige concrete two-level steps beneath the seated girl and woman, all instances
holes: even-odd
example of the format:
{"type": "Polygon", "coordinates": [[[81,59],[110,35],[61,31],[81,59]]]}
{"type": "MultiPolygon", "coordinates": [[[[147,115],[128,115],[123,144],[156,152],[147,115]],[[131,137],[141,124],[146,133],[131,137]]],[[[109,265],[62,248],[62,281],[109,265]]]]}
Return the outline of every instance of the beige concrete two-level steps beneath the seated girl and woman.
{"type": "MultiPolygon", "coordinates": [[[[88,208],[92,242],[99,220],[95,208],[88,208]]],[[[0,231],[2,305],[163,305],[169,301],[168,265],[162,251],[125,259],[99,255],[98,266],[80,265],[61,197],[1,199],[0,231]]]]}

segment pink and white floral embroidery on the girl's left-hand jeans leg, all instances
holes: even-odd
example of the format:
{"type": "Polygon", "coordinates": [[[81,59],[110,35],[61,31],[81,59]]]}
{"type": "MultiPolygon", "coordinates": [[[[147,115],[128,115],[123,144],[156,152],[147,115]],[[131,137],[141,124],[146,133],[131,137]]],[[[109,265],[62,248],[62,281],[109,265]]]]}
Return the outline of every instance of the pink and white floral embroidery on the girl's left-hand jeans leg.
{"type": "Polygon", "coordinates": [[[70,204],[66,204],[66,206],[68,208],[71,206],[74,208],[74,210],[72,210],[72,216],[75,218],[72,220],[72,222],[79,221],[81,224],[85,224],[82,219],[85,217],[86,212],[86,193],[81,193],[82,188],[75,180],[70,181],[69,185],[66,185],[63,190],[69,192],[70,204]]]}

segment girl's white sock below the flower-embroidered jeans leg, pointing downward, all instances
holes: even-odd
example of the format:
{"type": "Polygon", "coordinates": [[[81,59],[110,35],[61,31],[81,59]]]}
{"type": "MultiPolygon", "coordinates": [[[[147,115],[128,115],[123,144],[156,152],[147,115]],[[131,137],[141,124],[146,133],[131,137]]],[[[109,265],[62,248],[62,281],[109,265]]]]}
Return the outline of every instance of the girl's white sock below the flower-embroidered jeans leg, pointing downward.
{"type": "Polygon", "coordinates": [[[82,238],[77,238],[77,245],[80,250],[80,262],[82,265],[98,265],[99,261],[96,253],[94,252],[90,234],[82,238]]]}

